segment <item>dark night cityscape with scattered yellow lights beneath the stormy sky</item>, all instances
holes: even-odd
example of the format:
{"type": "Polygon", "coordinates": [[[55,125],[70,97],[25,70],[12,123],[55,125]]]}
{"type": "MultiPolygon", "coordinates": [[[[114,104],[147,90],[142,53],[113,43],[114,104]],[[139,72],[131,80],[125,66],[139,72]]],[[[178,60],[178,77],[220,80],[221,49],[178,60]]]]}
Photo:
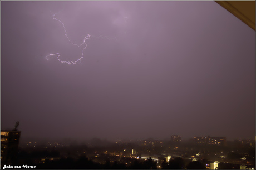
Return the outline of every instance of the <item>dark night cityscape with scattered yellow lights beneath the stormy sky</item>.
{"type": "Polygon", "coordinates": [[[53,169],[55,167],[75,169],[115,169],[117,167],[120,169],[255,168],[255,140],[226,141],[225,137],[208,136],[194,137],[194,140],[184,142],[180,136],[174,135],[165,141],[153,139],[115,142],[99,139],[83,142],[78,142],[75,139],[23,141],[19,145],[19,152],[15,154],[8,150],[8,146],[14,146],[19,141],[18,138],[11,137],[12,133],[16,134],[17,132],[15,130],[1,131],[1,141],[6,141],[2,144],[6,147],[1,146],[3,168],[6,166],[12,168],[8,167],[9,163],[21,166],[27,162],[34,168],[53,169]],[[14,141],[16,142],[13,143],[14,141]],[[8,155],[12,155],[12,160],[8,159],[8,155]]]}

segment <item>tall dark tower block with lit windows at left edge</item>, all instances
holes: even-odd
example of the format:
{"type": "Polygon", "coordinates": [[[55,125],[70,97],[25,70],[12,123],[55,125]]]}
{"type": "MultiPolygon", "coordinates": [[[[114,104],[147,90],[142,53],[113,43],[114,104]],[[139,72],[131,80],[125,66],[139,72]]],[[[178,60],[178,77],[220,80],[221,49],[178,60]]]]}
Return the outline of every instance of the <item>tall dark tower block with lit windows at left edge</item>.
{"type": "Polygon", "coordinates": [[[19,122],[16,123],[14,130],[1,131],[1,165],[13,164],[17,159],[19,137],[21,131],[18,131],[19,122]]]}

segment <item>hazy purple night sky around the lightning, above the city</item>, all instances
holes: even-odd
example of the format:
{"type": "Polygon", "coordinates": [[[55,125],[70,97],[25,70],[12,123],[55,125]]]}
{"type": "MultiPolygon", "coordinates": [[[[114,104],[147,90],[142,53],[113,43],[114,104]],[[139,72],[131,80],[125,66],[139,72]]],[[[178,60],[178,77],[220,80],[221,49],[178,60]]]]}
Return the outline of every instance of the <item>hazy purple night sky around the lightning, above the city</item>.
{"type": "Polygon", "coordinates": [[[255,31],[216,2],[1,1],[1,128],[22,138],[255,136],[255,31]],[[58,13],[60,12],[60,13],[58,13]],[[76,65],[87,35],[85,58],[76,65]]]}

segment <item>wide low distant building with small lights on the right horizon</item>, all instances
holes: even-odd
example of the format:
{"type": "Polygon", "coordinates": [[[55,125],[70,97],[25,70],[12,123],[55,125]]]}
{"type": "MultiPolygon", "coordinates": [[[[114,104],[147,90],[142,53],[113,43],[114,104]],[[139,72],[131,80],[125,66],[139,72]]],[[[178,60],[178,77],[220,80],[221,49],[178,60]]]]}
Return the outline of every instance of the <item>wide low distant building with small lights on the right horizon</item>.
{"type": "Polygon", "coordinates": [[[209,145],[222,145],[227,144],[226,137],[194,137],[194,142],[197,144],[209,144],[209,145]]]}

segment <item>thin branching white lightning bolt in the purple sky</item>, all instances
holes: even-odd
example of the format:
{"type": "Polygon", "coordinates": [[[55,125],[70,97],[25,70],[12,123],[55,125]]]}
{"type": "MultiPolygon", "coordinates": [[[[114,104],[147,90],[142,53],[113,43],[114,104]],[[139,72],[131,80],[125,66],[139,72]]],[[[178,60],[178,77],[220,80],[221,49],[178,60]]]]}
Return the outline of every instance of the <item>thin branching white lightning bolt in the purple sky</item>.
{"type": "MultiPolygon", "coordinates": [[[[57,13],[56,13],[56,14],[57,14],[57,13]]],[[[60,53],[55,53],[55,54],[49,54],[49,55],[47,55],[47,56],[46,56],[46,59],[47,59],[47,60],[49,60],[48,58],[49,58],[50,56],[58,55],[58,56],[57,56],[57,59],[58,59],[61,63],[68,63],[68,64],[71,64],[71,63],[72,63],[72,64],[76,64],[78,61],[81,61],[81,59],[84,57],[84,56],[83,56],[83,52],[85,51],[85,49],[86,49],[86,47],[87,47],[87,44],[86,44],[86,42],[85,42],[87,39],[90,39],[91,37],[95,37],[95,38],[106,38],[106,39],[108,39],[108,40],[117,40],[116,37],[115,37],[115,38],[110,38],[110,37],[102,36],[102,35],[96,37],[96,36],[87,34],[87,36],[86,36],[85,38],[83,38],[83,43],[82,43],[82,44],[80,44],[80,45],[75,44],[75,43],[73,43],[73,42],[70,40],[70,38],[68,38],[68,36],[67,36],[67,31],[66,31],[66,27],[65,27],[64,23],[61,22],[61,20],[59,20],[59,19],[57,19],[57,18],[55,17],[56,14],[54,14],[54,15],[52,16],[52,18],[55,19],[55,20],[57,20],[58,22],[60,22],[60,23],[62,24],[62,26],[63,26],[63,28],[64,28],[64,30],[65,30],[65,35],[66,35],[66,37],[67,37],[68,42],[72,43],[73,45],[76,45],[77,47],[81,47],[81,45],[85,44],[85,47],[84,47],[83,50],[82,50],[82,56],[80,57],[80,59],[78,59],[78,60],[76,60],[76,61],[62,61],[62,60],[60,60],[60,55],[61,55],[60,53]]]]}

